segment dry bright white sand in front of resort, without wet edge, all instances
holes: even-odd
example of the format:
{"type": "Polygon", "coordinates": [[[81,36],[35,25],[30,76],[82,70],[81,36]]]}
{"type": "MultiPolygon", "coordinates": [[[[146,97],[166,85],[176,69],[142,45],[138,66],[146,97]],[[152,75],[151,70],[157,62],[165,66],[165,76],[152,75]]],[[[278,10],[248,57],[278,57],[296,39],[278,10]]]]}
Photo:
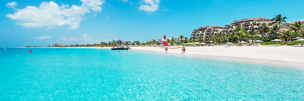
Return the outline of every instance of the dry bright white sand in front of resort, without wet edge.
{"type": "MultiPolygon", "coordinates": [[[[164,52],[159,47],[132,47],[138,50],[151,50],[164,52]]],[[[168,52],[181,53],[179,49],[168,49],[168,52]]],[[[202,46],[186,47],[185,54],[209,55],[209,56],[230,56],[253,59],[271,59],[291,62],[304,62],[304,47],[292,46],[245,46],[245,47],[223,47],[223,46],[202,46]]]]}

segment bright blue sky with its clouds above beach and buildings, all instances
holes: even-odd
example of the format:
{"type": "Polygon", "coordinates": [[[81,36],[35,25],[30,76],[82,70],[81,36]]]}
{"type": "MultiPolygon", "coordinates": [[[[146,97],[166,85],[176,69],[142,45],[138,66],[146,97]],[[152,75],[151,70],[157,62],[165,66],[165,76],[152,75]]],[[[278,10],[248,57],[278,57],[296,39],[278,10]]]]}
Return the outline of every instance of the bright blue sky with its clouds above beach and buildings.
{"type": "Polygon", "coordinates": [[[224,27],[233,20],[271,19],[278,14],[287,22],[304,20],[303,0],[2,0],[0,4],[0,47],[111,39],[147,42],[164,34],[190,38],[199,26],[224,27]]]}

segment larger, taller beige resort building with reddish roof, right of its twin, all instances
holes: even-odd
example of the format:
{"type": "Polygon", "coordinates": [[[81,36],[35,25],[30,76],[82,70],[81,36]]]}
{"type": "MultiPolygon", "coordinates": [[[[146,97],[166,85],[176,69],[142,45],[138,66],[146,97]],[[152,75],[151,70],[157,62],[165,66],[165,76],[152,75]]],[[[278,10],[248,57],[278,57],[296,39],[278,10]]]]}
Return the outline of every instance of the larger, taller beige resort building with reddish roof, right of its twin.
{"type": "MultiPolygon", "coordinates": [[[[271,19],[257,17],[257,18],[251,18],[251,19],[241,19],[241,20],[234,20],[233,23],[225,25],[225,30],[223,30],[223,35],[228,34],[228,32],[233,32],[233,30],[236,29],[237,26],[241,26],[245,29],[244,32],[248,32],[250,29],[255,29],[257,31],[258,27],[262,23],[266,23],[268,26],[270,26],[271,19]]],[[[266,33],[262,33],[261,36],[265,36],[266,33]]]]}

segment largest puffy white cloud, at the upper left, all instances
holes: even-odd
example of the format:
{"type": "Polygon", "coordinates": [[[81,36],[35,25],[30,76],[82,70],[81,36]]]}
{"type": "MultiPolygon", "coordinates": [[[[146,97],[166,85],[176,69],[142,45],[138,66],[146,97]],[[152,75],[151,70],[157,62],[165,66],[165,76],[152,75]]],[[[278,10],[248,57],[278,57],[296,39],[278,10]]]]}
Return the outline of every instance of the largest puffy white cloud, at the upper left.
{"type": "Polygon", "coordinates": [[[55,2],[42,2],[39,7],[27,6],[19,9],[7,17],[16,20],[16,25],[23,27],[44,27],[49,29],[56,26],[69,25],[70,29],[77,29],[80,26],[82,16],[86,13],[101,12],[103,4],[101,0],[80,0],[81,6],[68,5],[58,6],[55,2]]]}

